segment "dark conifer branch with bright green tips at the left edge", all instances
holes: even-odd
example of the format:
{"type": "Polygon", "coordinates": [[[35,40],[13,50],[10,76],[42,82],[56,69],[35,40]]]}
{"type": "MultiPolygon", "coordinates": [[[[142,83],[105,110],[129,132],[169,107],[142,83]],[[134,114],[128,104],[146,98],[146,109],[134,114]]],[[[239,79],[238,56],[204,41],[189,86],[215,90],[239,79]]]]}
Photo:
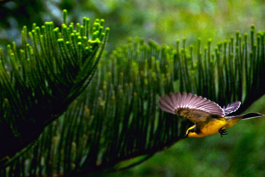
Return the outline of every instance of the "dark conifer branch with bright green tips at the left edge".
{"type": "Polygon", "coordinates": [[[10,158],[36,140],[82,93],[93,77],[107,42],[103,20],[67,25],[46,22],[22,30],[22,49],[8,46],[9,59],[0,51],[0,159],[10,158]],[[28,41],[27,34],[30,38],[28,41]]]}

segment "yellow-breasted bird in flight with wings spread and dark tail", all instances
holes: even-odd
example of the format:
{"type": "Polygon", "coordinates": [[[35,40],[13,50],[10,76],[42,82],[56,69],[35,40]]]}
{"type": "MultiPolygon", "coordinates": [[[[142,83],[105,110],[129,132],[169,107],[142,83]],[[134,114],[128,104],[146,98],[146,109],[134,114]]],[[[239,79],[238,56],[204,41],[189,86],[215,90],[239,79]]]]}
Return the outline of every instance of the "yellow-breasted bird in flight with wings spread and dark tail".
{"type": "Polygon", "coordinates": [[[187,118],[195,124],[187,129],[184,137],[205,137],[218,132],[223,137],[228,134],[226,129],[234,126],[239,120],[264,116],[260,113],[226,116],[236,111],[241,103],[237,101],[222,109],[215,102],[191,93],[171,92],[159,100],[158,106],[163,111],[187,118]]]}

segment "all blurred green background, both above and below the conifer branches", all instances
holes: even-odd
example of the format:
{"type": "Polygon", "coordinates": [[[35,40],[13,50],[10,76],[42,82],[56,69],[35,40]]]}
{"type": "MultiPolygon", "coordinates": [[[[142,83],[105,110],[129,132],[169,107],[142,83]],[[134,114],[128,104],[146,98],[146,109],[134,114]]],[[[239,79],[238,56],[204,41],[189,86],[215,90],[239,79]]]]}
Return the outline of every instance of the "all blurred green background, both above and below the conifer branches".
{"type": "MultiPolygon", "coordinates": [[[[188,45],[202,46],[208,38],[216,45],[230,38],[236,30],[249,32],[250,25],[265,30],[265,1],[182,1],[182,0],[47,0],[0,1],[0,45],[21,43],[23,25],[42,25],[44,21],[62,23],[62,10],[69,20],[82,22],[105,19],[111,28],[107,50],[111,52],[126,43],[128,37],[140,36],[158,43],[175,45],[186,37],[188,45]]],[[[265,97],[245,112],[265,113],[265,97]]],[[[265,176],[265,117],[239,122],[229,135],[187,138],[173,147],[155,154],[146,162],[116,173],[99,176],[265,176]]],[[[123,166],[130,162],[124,162],[123,166]]]]}

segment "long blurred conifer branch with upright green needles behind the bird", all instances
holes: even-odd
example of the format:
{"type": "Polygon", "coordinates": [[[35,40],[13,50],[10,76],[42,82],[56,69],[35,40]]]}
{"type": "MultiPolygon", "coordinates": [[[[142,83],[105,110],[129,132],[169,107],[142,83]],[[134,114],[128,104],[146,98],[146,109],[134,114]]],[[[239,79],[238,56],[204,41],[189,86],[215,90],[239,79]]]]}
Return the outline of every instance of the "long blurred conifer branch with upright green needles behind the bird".
{"type": "Polygon", "coordinates": [[[177,40],[176,49],[128,39],[126,46],[100,60],[91,84],[45,128],[39,144],[0,174],[12,169],[25,176],[84,176],[168,148],[190,125],[157,107],[158,97],[169,92],[196,93],[221,106],[239,100],[246,108],[265,93],[265,60],[263,32],[254,38],[251,27],[250,46],[247,34],[243,38],[237,31],[213,53],[211,40],[201,49],[199,39],[197,59],[185,39],[182,48],[177,40]]]}

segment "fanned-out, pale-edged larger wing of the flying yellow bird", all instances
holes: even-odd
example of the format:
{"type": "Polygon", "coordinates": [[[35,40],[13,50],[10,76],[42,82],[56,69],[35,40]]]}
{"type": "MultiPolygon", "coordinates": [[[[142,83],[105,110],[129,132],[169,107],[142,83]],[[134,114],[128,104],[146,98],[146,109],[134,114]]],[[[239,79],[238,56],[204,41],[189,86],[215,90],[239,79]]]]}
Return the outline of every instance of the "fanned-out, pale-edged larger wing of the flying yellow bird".
{"type": "Polygon", "coordinates": [[[179,92],[174,94],[171,92],[159,99],[158,106],[163,111],[187,118],[195,124],[206,121],[212,115],[225,116],[224,110],[218,104],[195,94],[181,94],[179,92]]]}

